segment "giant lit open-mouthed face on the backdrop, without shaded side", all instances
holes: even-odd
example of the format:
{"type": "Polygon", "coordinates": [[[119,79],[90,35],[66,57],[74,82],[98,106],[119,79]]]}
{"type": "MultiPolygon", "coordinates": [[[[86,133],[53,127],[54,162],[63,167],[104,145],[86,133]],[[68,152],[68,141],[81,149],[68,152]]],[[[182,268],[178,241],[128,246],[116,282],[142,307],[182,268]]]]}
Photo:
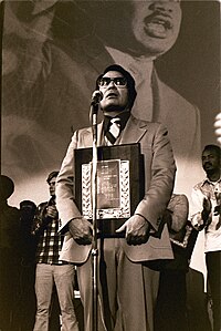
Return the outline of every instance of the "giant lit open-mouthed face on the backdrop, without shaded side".
{"type": "Polygon", "coordinates": [[[176,42],[181,22],[178,1],[133,0],[131,29],[135,39],[154,56],[167,52],[176,42]]]}

